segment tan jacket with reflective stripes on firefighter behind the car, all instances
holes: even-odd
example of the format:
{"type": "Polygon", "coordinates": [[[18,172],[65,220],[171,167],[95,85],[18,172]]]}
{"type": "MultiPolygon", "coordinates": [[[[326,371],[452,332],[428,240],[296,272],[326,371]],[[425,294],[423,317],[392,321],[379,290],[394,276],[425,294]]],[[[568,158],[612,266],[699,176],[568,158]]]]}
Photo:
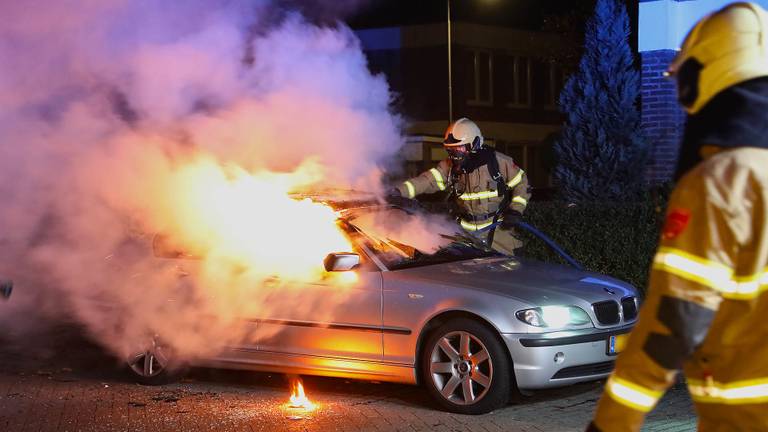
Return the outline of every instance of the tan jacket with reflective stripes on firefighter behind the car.
{"type": "MultiPolygon", "coordinates": [[[[525,172],[511,157],[495,153],[499,161],[499,171],[512,193],[510,208],[522,213],[531,197],[525,172]]],[[[414,198],[420,194],[434,193],[455,186],[459,207],[466,215],[460,221],[461,226],[470,232],[483,230],[493,223],[493,215],[504,199],[496,190],[498,183],[493,179],[488,165],[484,165],[470,173],[458,175],[456,184],[452,185],[451,164],[450,159],[442,160],[437,167],[403,182],[398,186],[398,190],[403,196],[414,198]]]]}

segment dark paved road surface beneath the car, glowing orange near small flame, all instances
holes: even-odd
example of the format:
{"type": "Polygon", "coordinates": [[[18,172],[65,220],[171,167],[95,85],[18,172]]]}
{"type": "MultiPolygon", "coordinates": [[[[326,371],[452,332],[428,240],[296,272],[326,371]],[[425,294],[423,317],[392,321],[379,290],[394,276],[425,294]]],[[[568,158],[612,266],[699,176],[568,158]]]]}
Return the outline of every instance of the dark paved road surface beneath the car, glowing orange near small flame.
{"type": "MultiPolygon", "coordinates": [[[[0,431],[581,431],[603,382],[536,392],[481,416],[437,410],[418,387],[304,377],[317,404],[287,406],[285,377],[194,369],[176,384],[134,384],[76,327],[0,344],[0,431]]],[[[678,384],[644,430],[692,431],[678,384]]]]}

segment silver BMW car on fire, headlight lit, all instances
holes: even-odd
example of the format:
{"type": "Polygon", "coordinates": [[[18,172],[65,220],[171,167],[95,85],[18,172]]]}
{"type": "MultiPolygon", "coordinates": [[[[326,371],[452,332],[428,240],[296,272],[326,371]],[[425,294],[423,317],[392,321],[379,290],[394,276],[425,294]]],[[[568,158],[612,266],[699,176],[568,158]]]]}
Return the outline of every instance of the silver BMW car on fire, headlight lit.
{"type": "MultiPolygon", "coordinates": [[[[196,365],[420,384],[444,409],[465,414],[504,406],[515,391],[611,372],[637,317],[631,285],[501,255],[469,237],[421,253],[369,234],[369,218],[361,215],[371,213],[412,217],[386,206],[343,213],[356,250],[324,262],[328,271],[358,275],[343,316],[332,322],[307,311],[248,317],[270,336],[196,365]]],[[[336,289],[313,285],[296,301],[336,289]]],[[[128,363],[139,381],[152,384],[169,378],[168,361],[153,343],[128,363]]]]}

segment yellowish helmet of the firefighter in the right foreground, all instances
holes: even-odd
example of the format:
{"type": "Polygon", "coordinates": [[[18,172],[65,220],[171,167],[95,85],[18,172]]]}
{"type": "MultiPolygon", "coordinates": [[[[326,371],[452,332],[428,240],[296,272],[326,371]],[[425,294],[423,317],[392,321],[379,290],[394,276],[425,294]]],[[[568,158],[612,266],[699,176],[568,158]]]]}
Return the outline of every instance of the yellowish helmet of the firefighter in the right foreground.
{"type": "Polygon", "coordinates": [[[732,3],[701,20],[667,70],[689,114],[735,84],[768,76],[768,17],[754,3],[732,3]]]}

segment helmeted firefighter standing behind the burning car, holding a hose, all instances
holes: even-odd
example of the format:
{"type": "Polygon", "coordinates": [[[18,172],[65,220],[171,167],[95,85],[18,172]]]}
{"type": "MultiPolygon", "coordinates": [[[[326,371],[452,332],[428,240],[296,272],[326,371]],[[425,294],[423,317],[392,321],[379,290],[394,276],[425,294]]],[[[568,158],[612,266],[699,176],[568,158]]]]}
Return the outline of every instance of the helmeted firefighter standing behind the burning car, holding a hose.
{"type": "Polygon", "coordinates": [[[461,226],[512,255],[522,246],[513,225],[531,196],[525,172],[509,156],[484,147],[480,128],[467,118],[448,127],[443,146],[449,157],[398,186],[398,193],[415,198],[449,189],[460,209],[461,226]]]}

